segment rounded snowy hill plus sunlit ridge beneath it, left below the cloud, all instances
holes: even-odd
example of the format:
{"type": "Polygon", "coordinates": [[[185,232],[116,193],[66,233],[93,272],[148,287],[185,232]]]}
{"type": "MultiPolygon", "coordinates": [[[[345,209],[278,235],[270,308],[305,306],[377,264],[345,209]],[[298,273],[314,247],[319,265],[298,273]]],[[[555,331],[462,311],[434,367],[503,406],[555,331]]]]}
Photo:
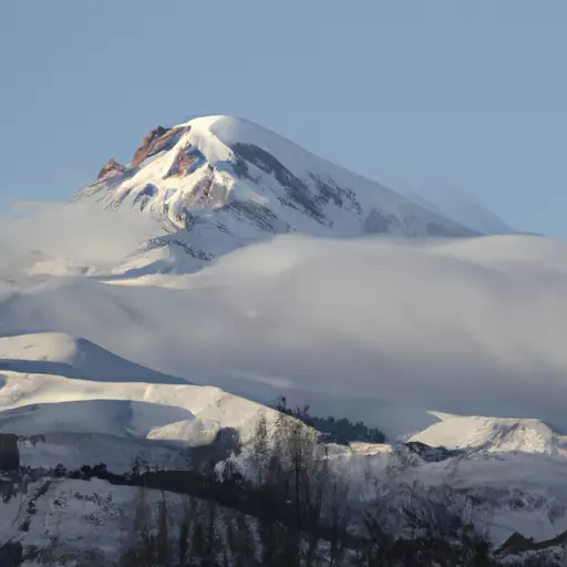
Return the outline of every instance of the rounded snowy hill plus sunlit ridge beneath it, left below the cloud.
{"type": "Polygon", "coordinates": [[[194,427],[196,419],[215,424],[215,433],[220,427],[234,427],[246,434],[245,426],[262,409],[218,388],[196,386],[181,379],[168,381],[166,375],[71,336],[8,337],[0,339],[0,353],[17,354],[19,362],[1,370],[0,429],[20,435],[80,429],[116,436],[187,441],[185,425],[194,427]],[[55,364],[50,365],[53,361],[55,364]],[[74,361],[78,363],[72,364],[74,361]],[[39,367],[42,372],[30,371],[34,362],[43,364],[39,367]],[[60,364],[76,375],[58,374],[60,364]],[[147,380],[152,377],[157,380],[147,380]]]}

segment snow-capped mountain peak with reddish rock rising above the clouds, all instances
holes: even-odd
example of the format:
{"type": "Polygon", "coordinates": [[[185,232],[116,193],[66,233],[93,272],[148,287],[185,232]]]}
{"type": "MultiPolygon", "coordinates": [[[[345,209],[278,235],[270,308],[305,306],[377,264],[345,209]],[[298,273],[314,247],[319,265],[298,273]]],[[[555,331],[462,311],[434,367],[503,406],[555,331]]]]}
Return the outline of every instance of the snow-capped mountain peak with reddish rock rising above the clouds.
{"type": "Polygon", "coordinates": [[[156,214],[165,234],[124,272],[194,271],[277,234],[472,236],[477,231],[240,118],[152,131],[132,162],[111,159],[75,202],[156,214]]]}

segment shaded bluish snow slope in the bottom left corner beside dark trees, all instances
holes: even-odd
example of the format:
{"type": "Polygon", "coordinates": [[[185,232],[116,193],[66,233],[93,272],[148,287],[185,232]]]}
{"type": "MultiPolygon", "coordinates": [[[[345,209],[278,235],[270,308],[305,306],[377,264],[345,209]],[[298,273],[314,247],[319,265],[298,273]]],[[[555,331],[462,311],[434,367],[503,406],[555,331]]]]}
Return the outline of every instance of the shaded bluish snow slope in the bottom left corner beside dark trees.
{"type": "MultiPolygon", "coordinates": [[[[147,491],[145,498],[153,511],[163,495],[147,491]]],[[[171,494],[166,498],[173,530],[178,528],[184,501],[171,494]]],[[[97,478],[31,482],[23,494],[0,504],[0,547],[10,540],[20,543],[30,556],[23,567],[114,567],[131,542],[136,502],[138,488],[112,486],[97,478]]]]}

